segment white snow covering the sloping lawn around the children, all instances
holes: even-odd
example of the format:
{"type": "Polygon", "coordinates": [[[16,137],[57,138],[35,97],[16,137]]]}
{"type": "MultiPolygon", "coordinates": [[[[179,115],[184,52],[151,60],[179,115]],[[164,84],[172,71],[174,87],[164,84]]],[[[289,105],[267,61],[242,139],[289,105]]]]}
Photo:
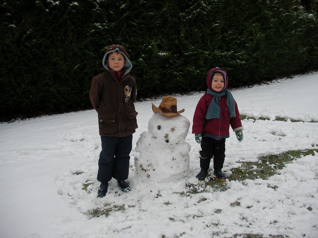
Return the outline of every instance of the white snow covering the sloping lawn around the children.
{"type": "MultiPolygon", "coordinates": [[[[96,197],[100,136],[94,110],[2,123],[0,237],[318,237],[318,153],[293,160],[266,180],[235,181],[230,176],[239,161],[262,163],[259,157],[263,155],[317,148],[318,124],[311,122],[318,121],[317,89],[318,72],[313,72],[231,91],[241,114],[271,120],[243,120],[240,143],[230,129],[225,191],[195,178],[200,145],[191,128],[202,96],[199,92],[175,96],[178,110],[185,109],[180,116],[190,121],[186,137],[180,132],[185,137],[182,144],[191,146],[183,155],[189,156],[187,175],[147,181],[136,173],[135,158],[143,158],[146,150],[136,148],[137,141],[149,132],[154,115],[151,103],[158,106],[161,98],[136,102],[139,128],[130,154],[131,192],[122,193],[112,180],[105,198],[96,197]],[[289,119],[275,121],[276,117],[289,119]],[[191,194],[189,186],[201,193],[191,194]],[[92,217],[89,211],[93,209],[104,210],[106,215],[92,217]]],[[[171,149],[152,153],[149,159],[157,162],[169,158],[171,149]]],[[[157,172],[165,174],[167,168],[160,167],[157,172]]]]}

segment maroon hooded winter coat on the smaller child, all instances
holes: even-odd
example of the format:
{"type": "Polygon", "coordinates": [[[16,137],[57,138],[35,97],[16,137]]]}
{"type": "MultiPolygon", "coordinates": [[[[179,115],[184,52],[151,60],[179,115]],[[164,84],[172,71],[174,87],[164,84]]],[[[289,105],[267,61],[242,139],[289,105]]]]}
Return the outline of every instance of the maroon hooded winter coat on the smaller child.
{"type": "MultiPolygon", "coordinates": [[[[206,84],[211,91],[213,91],[211,87],[213,71],[216,69],[217,68],[211,69],[208,72],[208,75],[206,78],[206,84]]],[[[221,68],[218,68],[218,69],[221,69],[221,68]]],[[[221,70],[224,70],[224,69],[221,69],[221,70]]],[[[226,73],[226,79],[224,84],[225,84],[224,89],[226,89],[228,85],[227,73],[226,73]]],[[[230,136],[229,134],[230,125],[233,131],[243,129],[241,119],[239,117],[239,109],[235,101],[234,102],[235,102],[236,116],[230,118],[230,112],[226,105],[226,98],[227,98],[226,95],[219,98],[220,118],[205,119],[206,113],[208,111],[208,108],[210,106],[210,103],[213,97],[214,97],[213,95],[205,93],[200,98],[199,102],[197,103],[197,107],[193,116],[192,133],[193,134],[200,133],[201,135],[207,134],[212,136],[212,138],[216,140],[220,140],[223,138],[228,138],[230,136]]]]}

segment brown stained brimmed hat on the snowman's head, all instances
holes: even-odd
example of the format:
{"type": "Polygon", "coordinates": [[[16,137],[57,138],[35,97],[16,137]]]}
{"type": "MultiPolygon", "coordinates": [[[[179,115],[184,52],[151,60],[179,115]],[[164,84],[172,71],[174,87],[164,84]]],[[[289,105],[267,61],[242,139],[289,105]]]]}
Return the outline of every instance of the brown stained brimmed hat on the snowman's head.
{"type": "Polygon", "coordinates": [[[184,112],[184,109],[177,111],[177,99],[172,96],[163,97],[159,107],[156,107],[153,103],[152,111],[156,114],[157,112],[164,116],[177,116],[184,112]]]}

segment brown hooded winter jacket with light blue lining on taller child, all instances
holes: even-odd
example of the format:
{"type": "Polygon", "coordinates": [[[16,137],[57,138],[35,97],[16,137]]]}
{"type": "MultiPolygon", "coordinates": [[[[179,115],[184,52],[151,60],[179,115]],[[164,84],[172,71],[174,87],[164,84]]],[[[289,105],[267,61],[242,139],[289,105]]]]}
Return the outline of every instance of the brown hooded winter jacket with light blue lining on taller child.
{"type": "Polygon", "coordinates": [[[103,58],[105,72],[92,80],[89,97],[98,113],[100,136],[129,136],[137,126],[136,80],[129,74],[132,64],[125,48],[121,45],[111,45],[103,58]],[[118,51],[126,57],[125,74],[120,83],[115,78],[113,70],[106,64],[107,54],[118,51]]]}

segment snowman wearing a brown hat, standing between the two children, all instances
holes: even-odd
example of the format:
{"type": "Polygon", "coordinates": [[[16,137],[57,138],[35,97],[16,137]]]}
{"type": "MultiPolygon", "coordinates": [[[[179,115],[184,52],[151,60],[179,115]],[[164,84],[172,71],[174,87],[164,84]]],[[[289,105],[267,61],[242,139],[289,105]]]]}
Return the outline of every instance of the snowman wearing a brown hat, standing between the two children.
{"type": "Polygon", "coordinates": [[[185,142],[190,122],[177,111],[176,98],[166,96],[148,122],[148,131],[142,132],[135,157],[136,175],[142,182],[166,182],[184,178],[189,171],[191,146],[185,142]]]}

